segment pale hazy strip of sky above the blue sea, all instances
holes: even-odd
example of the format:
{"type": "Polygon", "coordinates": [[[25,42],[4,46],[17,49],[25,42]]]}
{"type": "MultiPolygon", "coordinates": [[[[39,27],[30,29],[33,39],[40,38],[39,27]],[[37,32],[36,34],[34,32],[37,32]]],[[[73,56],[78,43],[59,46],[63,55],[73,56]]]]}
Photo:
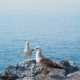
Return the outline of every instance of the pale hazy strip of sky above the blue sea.
{"type": "Polygon", "coordinates": [[[0,0],[0,9],[80,10],[80,0],[0,0]]]}

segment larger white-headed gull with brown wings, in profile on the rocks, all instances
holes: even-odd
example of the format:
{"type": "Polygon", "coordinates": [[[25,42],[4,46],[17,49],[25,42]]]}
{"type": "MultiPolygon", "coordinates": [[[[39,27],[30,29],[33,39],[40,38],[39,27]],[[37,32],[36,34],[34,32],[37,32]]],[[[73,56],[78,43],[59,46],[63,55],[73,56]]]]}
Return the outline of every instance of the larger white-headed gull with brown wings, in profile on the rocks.
{"type": "Polygon", "coordinates": [[[39,64],[39,66],[42,67],[43,69],[47,69],[47,68],[64,69],[63,66],[53,62],[52,60],[46,58],[45,56],[43,56],[42,50],[40,47],[36,47],[33,50],[36,51],[36,62],[37,62],[37,64],[39,64]]]}

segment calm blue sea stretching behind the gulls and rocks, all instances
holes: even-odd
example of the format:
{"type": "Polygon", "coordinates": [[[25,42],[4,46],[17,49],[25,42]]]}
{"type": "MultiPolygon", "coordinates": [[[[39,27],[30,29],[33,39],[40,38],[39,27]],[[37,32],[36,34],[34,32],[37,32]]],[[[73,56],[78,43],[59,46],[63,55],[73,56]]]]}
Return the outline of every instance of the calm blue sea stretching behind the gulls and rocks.
{"type": "Polygon", "coordinates": [[[0,13],[0,71],[26,59],[26,40],[51,59],[72,60],[80,66],[79,14],[0,13]]]}

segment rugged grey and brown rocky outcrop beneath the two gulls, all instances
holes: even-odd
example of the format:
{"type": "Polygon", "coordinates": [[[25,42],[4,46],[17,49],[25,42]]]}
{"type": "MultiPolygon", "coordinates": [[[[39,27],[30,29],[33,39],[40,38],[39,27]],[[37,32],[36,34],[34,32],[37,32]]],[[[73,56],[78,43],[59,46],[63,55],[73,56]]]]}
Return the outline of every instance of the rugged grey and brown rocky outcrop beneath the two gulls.
{"type": "Polygon", "coordinates": [[[58,64],[65,69],[48,68],[44,73],[35,60],[25,60],[0,73],[0,80],[80,80],[80,71],[74,62],[60,61],[58,64]]]}

